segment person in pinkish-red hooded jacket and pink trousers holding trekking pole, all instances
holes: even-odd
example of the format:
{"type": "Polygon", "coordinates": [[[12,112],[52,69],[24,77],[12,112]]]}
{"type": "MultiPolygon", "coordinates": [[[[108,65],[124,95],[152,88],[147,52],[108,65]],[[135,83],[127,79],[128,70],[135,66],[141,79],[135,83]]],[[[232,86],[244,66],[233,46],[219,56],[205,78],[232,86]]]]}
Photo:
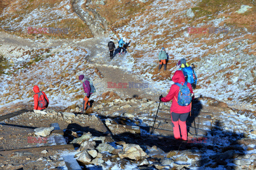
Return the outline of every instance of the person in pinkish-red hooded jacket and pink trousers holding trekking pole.
{"type": "MultiPolygon", "coordinates": [[[[177,70],[175,71],[172,81],[175,83],[185,83],[185,77],[182,71],[177,70]]],[[[193,89],[191,87],[191,84],[187,84],[190,93],[194,95],[193,89]]],[[[159,99],[163,102],[167,102],[172,100],[172,105],[170,108],[171,112],[171,118],[173,123],[173,133],[175,139],[182,139],[187,140],[187,125],[186,120],[189,115],[189,112],[191,111],[191,103],[187,106],[180,106],[177,102],[178,94],[179,94],[179,86],[176,84],[172,84],[169,94],[166,97],[160,96],[159,99]],[[179,129],[180,126],[180,129],[179,129]],[[181,137],[180,137],[181,133],[181,137]]]]}

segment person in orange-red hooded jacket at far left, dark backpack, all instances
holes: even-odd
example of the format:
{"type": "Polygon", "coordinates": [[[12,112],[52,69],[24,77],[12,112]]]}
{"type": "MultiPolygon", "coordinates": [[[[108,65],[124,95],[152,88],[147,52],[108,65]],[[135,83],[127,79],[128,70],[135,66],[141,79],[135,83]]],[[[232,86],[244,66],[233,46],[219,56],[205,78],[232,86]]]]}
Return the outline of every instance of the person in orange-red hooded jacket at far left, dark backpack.
{"type": "Polygon", "coordinates": [[[43,91],[39,90],[38,86],[34,86],[33,91],[34,95],[34,112],[46,114],[44,109],[49,105],[49,99],[43,91]]]}

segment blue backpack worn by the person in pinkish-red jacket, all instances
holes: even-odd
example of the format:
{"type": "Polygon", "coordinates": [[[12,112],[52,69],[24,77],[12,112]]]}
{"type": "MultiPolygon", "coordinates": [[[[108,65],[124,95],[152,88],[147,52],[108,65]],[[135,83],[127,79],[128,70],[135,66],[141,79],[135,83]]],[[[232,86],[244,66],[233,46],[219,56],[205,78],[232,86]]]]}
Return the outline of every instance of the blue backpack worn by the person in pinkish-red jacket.
{"type": "Polygon", "coordinates": [[[185,83],[175,83],[177,86],[180,87],[179,89],[179,94],[178,94],[178,100],[176,99],[176,101],[178,102],[178,104],[180,106],[188,106],[191,103],[192,97],[190,94],[190,90],[187,87],[188,82],[185,81],[185,83]],[[182,85],[183,84],[183,85],[182,85]]]}

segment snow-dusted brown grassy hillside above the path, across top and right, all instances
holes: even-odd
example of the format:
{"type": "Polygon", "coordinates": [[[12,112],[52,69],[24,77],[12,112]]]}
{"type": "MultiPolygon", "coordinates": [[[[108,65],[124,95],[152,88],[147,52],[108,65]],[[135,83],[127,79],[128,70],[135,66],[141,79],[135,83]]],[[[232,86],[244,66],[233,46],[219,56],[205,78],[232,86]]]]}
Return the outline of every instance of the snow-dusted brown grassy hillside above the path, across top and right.
{"type": "MultiPolygon", "coordinates": [[[[195,63],[197,67],[196,92],[198,95],[225,101],[230,106],[235,104],[236,108],[242,107],[254,111],[256,103],[255,72],[253,71],[255,70],[253,59],[256,54],[254,1],[233,1],[231,4],[226,1],[214,3],[210,1],[147,1],[147,3],[104,1],[105,5],[99,1],[87,3],[47,1],[42,2],[40,6],[37,5],[37,1],[23,5],[19,5],[17,1],[10,3],[2,12],[0,27],[4,31],[13,32],[14,35],[31,38],[37,34],[28,34],[27,27],[67,27],[70,30],[67,35],[46,33],[43,36],[45,38],[89,38],[92,35],[82,33],[89,28],[79,17],[77,18],[72,10],[73,3],[81,5],[82,10],[89,7],[95,8],[95,11],[106,19],[109,37],[114,37],[116,42],[123,36],[132,41],[129,56],[126,56],[130,59],[122,61],[120,65],[128,67],[134,74],[142,74],[145,81],[161,87],[162,93],[171,84],[168,79],[175,71],[175,64],[181,58],[186,58],[188,63],[195,63]],[[238,14],[236,11],[241,5],[249,5],[252,8],[238,14]],[[22,10],[23,8],[26,10],[22,10]],[[42,11],[40,14],[39,8],[42,11]],[[193,17],[187,16],[189,8],[194,13],[193,17]],[[110,9],[114,11],[108,12],[110,9]],[[69,24],[69,20],[72,20],[73,24],[69,24]],[[76,25],[81,23],[83,26],[76,25]],[[191,27],[194,28],[194,33],[188,33],[188,28],[191,27]],[[218,30],[215,30],[215,33],[209,33],[209,28],[213,27],[216,30],[226,29],[227,31],[218,33],[218,30]],[[200,31],[200,28],[205,31],[200,31]],[[79,35],[77,35],[78,32],[79,35]],[[169,71],[158,73],[157,54],[162,46],[169,53],[167,64],[169,71]]],[[[90,11],[87,13],[93,15],[90,11]]]]}

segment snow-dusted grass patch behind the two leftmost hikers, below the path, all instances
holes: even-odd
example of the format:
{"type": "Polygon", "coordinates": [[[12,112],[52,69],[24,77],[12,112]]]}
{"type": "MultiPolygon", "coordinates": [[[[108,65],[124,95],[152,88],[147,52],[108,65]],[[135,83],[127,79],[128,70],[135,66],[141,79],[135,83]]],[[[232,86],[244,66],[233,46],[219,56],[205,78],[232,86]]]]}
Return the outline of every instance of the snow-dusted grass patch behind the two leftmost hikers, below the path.
{"type": "MultiPolygon", "coordinates": [[[[39,52],[41,53],[41,52],[39,52]]],[[[14,64],[6,72],[14,72],[16,77],[3,74],[0,86],[1,105],[14,104],[20,101],[30,101],[33,104],[33,87],[45,91],[52,106],[68,107],[76,103],[76,96],[84,95],[82,82],[77,76],[89,75],[93,80],[99,78],[93,67],[85,62],[87,52],[82,48],[57,47],[49,54],[44,54],[37,61],[33,55],[23,55],[16,60],[9,56],[14,64]],[[57,49],[57,50],[56,50],[57,49]],[[35,61],[35,65],[29,62],[35,61]],[[29,75],[29,76],[28,76],[29,75]]],[[[96,93],[95,96],[98,94],[96,93]]]]}

